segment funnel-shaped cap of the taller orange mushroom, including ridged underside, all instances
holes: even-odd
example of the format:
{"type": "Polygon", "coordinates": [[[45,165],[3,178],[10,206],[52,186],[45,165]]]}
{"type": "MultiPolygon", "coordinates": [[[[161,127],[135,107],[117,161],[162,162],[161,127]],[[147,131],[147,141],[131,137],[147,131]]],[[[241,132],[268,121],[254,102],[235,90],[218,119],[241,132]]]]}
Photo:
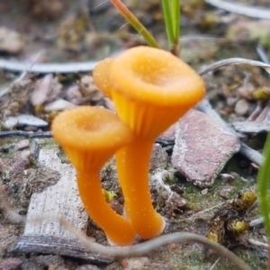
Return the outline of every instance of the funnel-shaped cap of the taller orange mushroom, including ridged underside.
{"type": "Polygon", "coordinates": [[[128,49],[103,68],[121,121],[141,139],[156,138],[205,93],[201,76],[163,49],[128,49]]]}

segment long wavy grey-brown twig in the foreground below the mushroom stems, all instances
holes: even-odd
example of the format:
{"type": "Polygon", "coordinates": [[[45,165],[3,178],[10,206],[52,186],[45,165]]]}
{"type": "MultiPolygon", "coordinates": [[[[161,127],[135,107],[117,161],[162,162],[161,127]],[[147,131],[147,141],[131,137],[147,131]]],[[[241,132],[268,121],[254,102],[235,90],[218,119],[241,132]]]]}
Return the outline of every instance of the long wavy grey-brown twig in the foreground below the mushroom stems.
{"type": "Polygon", "coordinates": [[[229,251],[229,249],[227,249],[226,247],[223,247],[220,244],[212,242],[208,238],[194,233],[175,232],[172,234],[153,238],[146,242],[130,247],[106,247],[87,239],[85,237],[85,234],[76,229],[72,223],[56,215],[43,215],[36,218],[35,220],[32,219],[31,221],[40,222],[44,219],[58,220],[58,222],[60,222],[60,224],[65,229],[70,231],[74,235],[74,237],[79,240],[85,247],[89,248],[92,252],[96,252],[104,256],[139,257],[148,254],[148,252],[152,251],[153,249],[156,249],[163,245],[167,245],[172,242],[175,243],[179,241],[194,241],[206,247],[214,249],[220,256],[228,258],[231,263],[233,263],[235,266],[238,266],[239,269],[251,270],[251,268],[247,266],[245,262],[243,262],[239,257],[229,251]]]}

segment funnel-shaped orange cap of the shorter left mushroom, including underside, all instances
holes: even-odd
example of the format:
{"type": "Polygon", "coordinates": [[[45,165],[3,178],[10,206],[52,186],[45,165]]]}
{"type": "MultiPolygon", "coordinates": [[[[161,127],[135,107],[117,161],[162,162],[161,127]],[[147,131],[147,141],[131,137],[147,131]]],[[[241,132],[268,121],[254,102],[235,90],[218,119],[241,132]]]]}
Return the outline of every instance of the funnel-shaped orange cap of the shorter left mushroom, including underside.
{"type": "Polygon", "coordinates": [[[79,170],[103,166],[133,139],[131,130],[115,113],[91,106],[59,113],[52,123],[52,134],[79,170]]]}

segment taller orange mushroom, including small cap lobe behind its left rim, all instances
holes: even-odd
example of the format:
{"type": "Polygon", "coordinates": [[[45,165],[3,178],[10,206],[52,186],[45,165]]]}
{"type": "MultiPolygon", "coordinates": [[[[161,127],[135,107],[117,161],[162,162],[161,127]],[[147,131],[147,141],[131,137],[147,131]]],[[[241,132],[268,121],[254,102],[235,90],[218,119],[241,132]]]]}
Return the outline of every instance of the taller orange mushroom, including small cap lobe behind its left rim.
{"type": "Polygon", "coordinates": [[[149,192],[152,145],[158,134],[202,99],[202,78],[171,53],[140,46],[102,61],[95,67],[94,81],[112,97],[121,121],[135,134],[133,142],[116,154],[119,180],[133,229],[141,238],[154,238],[165,221],[154,210],[149,192]]]}

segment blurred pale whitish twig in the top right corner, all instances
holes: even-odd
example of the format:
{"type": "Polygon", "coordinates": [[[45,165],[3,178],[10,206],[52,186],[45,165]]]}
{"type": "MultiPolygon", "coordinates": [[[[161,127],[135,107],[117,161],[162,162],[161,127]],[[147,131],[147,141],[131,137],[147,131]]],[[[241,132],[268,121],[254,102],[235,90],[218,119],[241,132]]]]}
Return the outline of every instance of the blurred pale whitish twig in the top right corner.
{"type": "Polygon", "coordinates": [[[267,9],[257,6],[228,3],[222,0],[204,0],[207,4],[214,5],[233,14],[245,15],[257,19],[270,20],[270,12],[267,9]]]}

